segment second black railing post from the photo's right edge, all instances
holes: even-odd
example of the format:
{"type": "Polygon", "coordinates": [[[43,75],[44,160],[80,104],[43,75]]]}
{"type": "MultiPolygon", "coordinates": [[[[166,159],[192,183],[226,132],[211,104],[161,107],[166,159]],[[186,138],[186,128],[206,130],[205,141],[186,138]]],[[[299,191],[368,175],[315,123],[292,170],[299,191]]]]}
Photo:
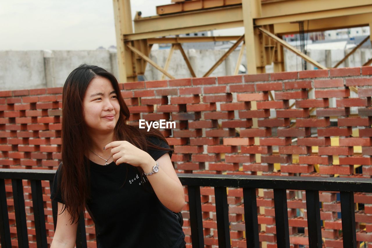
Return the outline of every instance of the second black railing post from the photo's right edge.
{"type": "Polygon", "coordinates": [[[306,212],[309,233],[309,248],[322,248],[319,191],[306,191],[306,212]]]}

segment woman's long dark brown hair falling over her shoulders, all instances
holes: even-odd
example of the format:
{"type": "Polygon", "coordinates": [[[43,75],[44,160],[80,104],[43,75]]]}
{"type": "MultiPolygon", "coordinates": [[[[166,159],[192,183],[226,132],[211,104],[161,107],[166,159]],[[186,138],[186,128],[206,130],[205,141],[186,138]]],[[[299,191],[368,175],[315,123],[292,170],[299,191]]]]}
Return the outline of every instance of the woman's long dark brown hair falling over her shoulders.
{"type": "MultiPolygon", "coordinates": [[[[84,121],[83,99],[90,81],[97,76],[110,80],[119,101],[120,113],[114,130],[115,140],[126,140],[145,152],[149,148],[172,150],[156,146],[146,139],[154,136],[167,143],[158,129],[151,128],[147,131],[147,128],[128,124],[129,109],[121,95],[118,80],[112,73],[87,64],[74,69],[68,75],[62,91],[62,164],[58,174],[58,190],[61,190],[62,201],[65,203],[61,213],[67,209],[71,215],[71,224],[80,219],[79,213],[84,210],[90,197],[88,147],[91,138],[84,121]]],[[[140,172],[142,180],[142,168],[135,168],[140,172]]]]}

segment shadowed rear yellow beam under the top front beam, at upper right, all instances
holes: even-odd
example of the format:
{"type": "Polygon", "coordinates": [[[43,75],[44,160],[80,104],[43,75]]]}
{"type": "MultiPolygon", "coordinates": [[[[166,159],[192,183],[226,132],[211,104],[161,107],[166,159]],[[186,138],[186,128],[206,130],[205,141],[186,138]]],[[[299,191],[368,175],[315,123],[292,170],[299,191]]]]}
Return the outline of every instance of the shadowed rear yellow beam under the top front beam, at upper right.
{"type": "MultiPolygon", "coordinates": [[[[368,26],[368,22],[372,22],[371,13],[337,16],[331,18],[304,20],[305,32],[318,32],[340,28],[354,28],[360,26],[368,26]]],[[[274,24],[275,34],[297,34],[299,33],[298,23],[276,23],[274,24]]]]}

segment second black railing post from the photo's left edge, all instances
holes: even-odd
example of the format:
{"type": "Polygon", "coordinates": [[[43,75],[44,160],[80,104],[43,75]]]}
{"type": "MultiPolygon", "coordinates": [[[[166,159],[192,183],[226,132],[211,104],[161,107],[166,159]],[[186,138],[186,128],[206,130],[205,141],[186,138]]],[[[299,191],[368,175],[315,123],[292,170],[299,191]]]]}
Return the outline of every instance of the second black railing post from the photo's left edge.
{"type": "Polygon", "coordinates": [[[25,198],[23,196],[22,179],[12,179],[12,188],[18,247],[28,248],[25,198]]]}

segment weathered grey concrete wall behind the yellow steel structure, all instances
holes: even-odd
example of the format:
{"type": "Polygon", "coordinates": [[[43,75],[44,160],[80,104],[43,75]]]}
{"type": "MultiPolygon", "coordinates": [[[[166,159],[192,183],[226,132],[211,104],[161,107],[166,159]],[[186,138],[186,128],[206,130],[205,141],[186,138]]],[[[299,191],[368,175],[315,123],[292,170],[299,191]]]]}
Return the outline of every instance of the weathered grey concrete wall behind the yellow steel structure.
{"type": "MultiPolygon", "coordinates": [[[[309,50],[311,58],[326,67],[333,67],[350,50],[309,50]]],[[[202,77],[209,68],[225,53],[224,50],[186,50],[185,51],[197,77],[202,77]]],[[[164,66],[169,50],[151,51],[150,58],[164,66]]],[[[232,75],[239,51],[234,51],[210,76],[232,75]]],[[[372,49],[357,50],[339,67],[361,66],[372,57],[372,49]]],[[[301,58],[285,50],[286,71],[302,70],[301,58]]],[[[0,51],[0,90],[36,89],[63,86],[68,74],[83,63],[101,66],[118,77],[116,51],[0,51]]],[[[246,64],[245,55],[242,64],[246,64]]],[[[314,69],[311,64],[308,70],[314,69]]],[[[191,77],[179,50],[174,51],[169,73],[176,78],[191,77]]],[[[273,66],[266,66],[273,72],[273,66]]],[[[159,80],[162,73],[147,64],[147,80],[159,80]]]]}

